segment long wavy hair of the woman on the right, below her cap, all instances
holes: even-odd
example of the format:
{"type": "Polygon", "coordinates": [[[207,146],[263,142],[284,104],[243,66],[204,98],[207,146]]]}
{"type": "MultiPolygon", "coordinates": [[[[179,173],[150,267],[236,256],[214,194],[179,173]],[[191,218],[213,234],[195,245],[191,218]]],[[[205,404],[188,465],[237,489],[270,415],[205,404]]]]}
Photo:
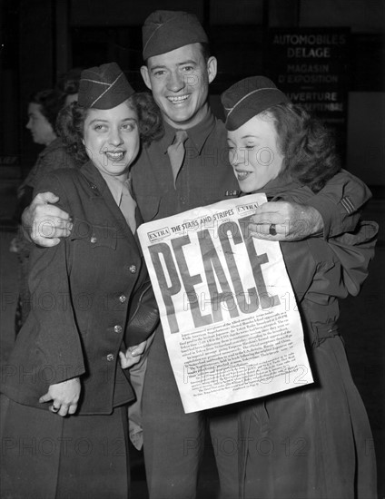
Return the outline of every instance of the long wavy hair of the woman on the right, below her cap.
{"type": "Polygon", "coordinates": [[[261,114],[271,116],[278,135],[284,157],[280,176],[290,176],[318,192],[341,170],[331,131],[301,105],[276,104],[261,114]]]}

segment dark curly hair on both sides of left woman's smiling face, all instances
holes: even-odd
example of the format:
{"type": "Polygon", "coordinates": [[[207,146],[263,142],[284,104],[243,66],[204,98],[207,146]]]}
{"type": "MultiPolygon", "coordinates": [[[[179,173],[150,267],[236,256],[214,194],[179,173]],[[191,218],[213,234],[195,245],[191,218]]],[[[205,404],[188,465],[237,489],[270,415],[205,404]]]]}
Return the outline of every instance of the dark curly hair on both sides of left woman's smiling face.
{"type": "MultiPolygon", "coordinates": [[[[133,93],[126,103],[137,113],[141,145],[147,147],[159,140],[164,133],[162,115],[151,93],[133,93]]],[[[85,151],[84,120],[90,108],[71,103],[65,106],[57,117],[57,130],[67,151],[76,161],[89,160],[85,151]]]]}

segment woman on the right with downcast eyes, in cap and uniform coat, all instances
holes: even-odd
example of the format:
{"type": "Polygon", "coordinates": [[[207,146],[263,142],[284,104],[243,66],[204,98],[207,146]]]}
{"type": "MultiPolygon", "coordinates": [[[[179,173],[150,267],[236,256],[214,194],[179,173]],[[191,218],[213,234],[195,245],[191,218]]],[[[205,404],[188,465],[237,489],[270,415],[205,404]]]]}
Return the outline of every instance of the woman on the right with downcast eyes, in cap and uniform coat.
{"type": "MultiPolygon", "coordinates": [[[[222,104],[243,192],[306,204],[339,174],[331,132],[268,78],[235,83],[222,104]]],[[[376,497],[370,424],[337,325],[339,298],[358,294],[367,277],[376,233],[377,224],[362,221],[333,240],[281,242],[314,383],[242,406],[242,498],[376,497]]]]}

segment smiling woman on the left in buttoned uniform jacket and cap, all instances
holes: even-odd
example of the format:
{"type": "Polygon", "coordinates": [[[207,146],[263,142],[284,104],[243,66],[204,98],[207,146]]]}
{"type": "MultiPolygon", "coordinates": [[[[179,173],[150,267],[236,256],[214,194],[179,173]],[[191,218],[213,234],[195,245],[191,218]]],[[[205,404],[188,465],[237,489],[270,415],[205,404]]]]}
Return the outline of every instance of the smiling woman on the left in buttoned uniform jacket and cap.
{"type": "Polygon", "coordinates": [[[88,161],[47,174],[35,190],[53,192],[74,225],[59,245],[31,255],[33,307],[2,379],[2,492],[126,499],[127,368],[158,322],[129,168],[141,138],[162,132],[161,119],[151,96],[134,93],[111,63],[84,70],[78,102],[59,122],[66,146],[88,161]]]}

